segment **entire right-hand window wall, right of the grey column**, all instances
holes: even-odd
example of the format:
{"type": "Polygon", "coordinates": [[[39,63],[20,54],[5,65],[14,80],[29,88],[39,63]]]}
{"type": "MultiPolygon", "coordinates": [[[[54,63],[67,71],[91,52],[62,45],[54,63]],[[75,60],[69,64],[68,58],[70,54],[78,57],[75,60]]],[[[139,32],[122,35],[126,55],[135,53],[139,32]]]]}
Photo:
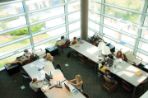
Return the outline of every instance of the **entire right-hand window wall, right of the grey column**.
{"type": "Polygon", "coordinates": [[[89,32],[148,62],[147,9],[147,0],[90,0],[89,32]]]}

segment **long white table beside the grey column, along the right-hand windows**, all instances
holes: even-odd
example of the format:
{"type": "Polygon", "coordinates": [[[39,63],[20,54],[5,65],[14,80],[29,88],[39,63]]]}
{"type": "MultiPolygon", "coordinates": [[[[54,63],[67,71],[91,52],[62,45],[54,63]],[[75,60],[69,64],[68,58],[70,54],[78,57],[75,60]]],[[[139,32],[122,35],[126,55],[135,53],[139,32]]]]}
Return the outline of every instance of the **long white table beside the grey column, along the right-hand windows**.
{"type": "MultiPolygon", "coordinates": [[[[94,61],[95,63],[98,63],[98,47],[84,40],[81,40],[81,42],[78,42],[77,44],[70,47],[85,57],[89,58],[90,60],[94,61]]],[[[110,67],[110,71],[135,87],[133,95],[135,93],[136,87],[148,78],[148,73],[145,71],[125,61],[118,61],[118,59],[114,61],[113,66],[110,67]]]]}

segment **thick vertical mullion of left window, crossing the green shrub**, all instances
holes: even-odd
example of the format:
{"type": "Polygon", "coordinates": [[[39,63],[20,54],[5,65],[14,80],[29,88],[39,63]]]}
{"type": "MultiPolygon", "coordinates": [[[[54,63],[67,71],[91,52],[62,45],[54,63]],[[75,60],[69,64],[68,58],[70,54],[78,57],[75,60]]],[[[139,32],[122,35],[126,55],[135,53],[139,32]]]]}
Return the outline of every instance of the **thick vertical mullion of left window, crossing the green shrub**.
{"type": "Polygon", "coordinates": [[[25,19],[26,19],[26,24],[28,25],[28,32],[30,35],[30,44],[31,44],[31,48],[34,51],[34,42],[33,42],[33,36],[32,36],[32,31],[31,31],[31,27],[30,27],[30,22],[29,22],[29,14],[28,14],[28,9],[27,9],[27,5],[26,5],[26,1],[22,1],[22,5],[24,8],[24,12],[25,12],[25,19]]]}

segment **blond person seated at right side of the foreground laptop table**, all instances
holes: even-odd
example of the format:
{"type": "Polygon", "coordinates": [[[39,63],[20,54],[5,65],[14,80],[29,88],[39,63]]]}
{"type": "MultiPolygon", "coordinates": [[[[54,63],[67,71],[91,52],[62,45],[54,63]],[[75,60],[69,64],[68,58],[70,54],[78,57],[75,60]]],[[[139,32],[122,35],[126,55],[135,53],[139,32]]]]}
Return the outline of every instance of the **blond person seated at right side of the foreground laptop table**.
{"type": "Polygon", "coordinates": [[[76,86],[77,89],[82,91],[83,80],[81,79],[81,76],[79,74],[75,75],[74,79],[69,80],[69,83],[76,86]]]}

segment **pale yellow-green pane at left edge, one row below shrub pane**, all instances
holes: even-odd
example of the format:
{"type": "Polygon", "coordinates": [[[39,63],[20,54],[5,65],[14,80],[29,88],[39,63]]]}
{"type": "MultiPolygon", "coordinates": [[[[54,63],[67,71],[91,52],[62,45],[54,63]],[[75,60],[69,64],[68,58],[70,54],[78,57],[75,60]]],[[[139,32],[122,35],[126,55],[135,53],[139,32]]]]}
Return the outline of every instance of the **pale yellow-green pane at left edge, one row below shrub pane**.
{"type": "Polygon", "coordinates": [[[11,51],[17,51],[20,48],[27,47],[29,45],[30,45],[30,40],[29,39],[19,41],[17,43],[13,43],[11,45],[0,48],[0,55],[7,54],[7,53],[9,53],[11,51]]]}

